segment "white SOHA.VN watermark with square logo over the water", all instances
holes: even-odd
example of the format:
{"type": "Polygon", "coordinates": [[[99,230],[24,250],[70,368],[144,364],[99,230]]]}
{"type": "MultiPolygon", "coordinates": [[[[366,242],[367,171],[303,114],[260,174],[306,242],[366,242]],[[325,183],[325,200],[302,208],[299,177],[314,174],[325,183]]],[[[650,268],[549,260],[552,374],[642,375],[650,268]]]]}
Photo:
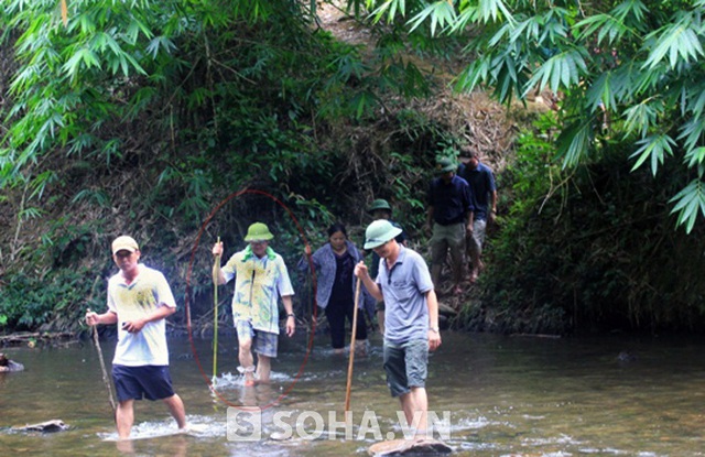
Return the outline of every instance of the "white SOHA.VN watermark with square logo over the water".
{"type": "MultiPolygon", "coordinates": [[[[276,411],[273,414],[268,414],[265,420],[267,424],[263,424],[262,410],[259,407],[228,407],[228,440],[257,442],[263,437],[274,436],[276,439],[411,439],[419,431],[423,417],[417,412],[413,415],[410,424],[404,413],[398,411],[397,421],[401,429],[399,436],[395,432],[382,434],[378,416],[373,411],[365,411],[361,416],[357,414],[356,417],[351,412],[328,411],[326,414],[317,411],[276,411]],[[267,429],[265,434],[263,428],[267,429]]],[[[451,439],[451,412],[443,411],[438,416],[436,412],[429,411],[425,435],[451,439]]]]}

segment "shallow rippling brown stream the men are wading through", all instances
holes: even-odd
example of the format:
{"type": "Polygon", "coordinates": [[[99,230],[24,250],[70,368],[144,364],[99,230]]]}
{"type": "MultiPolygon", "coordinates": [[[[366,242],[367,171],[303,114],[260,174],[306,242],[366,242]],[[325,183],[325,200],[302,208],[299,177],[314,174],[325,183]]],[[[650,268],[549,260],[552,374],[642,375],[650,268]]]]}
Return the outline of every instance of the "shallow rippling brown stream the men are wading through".
{"type": "MultiPolygon", "coordinates": [[[[705,341],[699,338],[454,333],[443,338],[442,349],[431,356],[429,400],[455,455],[703,455],[705,341]]],[[[349,431],[343,422],[348,359],[334,355],[327,344],[325,335],[316,337],[301,369],[305,336],[282,338],[271,384],[245,388],[236,371],[236,340],[221,338],[219,395],[214,398],[209,374],[200,371],[188,339],[172,338],[175,389],[198,429],[154,436],[175,424],[160,402],[138,402],[134,433],[144,439],[128,443],[115,442],[107,391],[90,345],[3,349],[24,363],[25,371],[0,374],[2,454],[340,456],[366,455],[378,439],[402,437],[398,401],[389,396],[381,368],[379,336],[372,338],[368,356],[355,359],[349,431]],[[238,406],[230,410],[231,421],[246,426],[230,440],[229,404],[238,406]],[[241,406],[262,407],[261,439],[252,439],[253,416],[242,415],[241,406]],[[70,429],[42,435],[11,428],[52,418],[70,429]]],[[[195,345],[197,360],[209,373],[210,341],[195,345]]],[[[113,342],[104,341],[102,348],[109,361],[113,342]]]]}

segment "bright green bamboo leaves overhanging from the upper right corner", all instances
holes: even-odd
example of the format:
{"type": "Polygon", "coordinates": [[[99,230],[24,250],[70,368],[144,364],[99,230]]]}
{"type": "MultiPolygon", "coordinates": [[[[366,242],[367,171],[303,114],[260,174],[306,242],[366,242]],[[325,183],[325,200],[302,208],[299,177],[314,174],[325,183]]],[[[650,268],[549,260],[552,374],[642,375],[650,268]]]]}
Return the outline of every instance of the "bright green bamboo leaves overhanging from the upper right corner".
{"type": "MultiPolygon", "coordinates": [[[[359,0],[348,3],[358,4],[359,0]]],[[[465,40],[467,66],[459,90],[489,87],[502,102],[536,88],[562,95],[562,134],[556,146],[564,166],[600,154],[594,138],[622,138],[633,168],[652,174],[671,162],[690,174],[674,189],[672,210],[686,232],[705,216],[702,164],[705,107],[705,1],[599,3],[367,0],[377,21],[426,40],[465,40]],[[609,129],[593,120],[601,110],[609,129]]]]}

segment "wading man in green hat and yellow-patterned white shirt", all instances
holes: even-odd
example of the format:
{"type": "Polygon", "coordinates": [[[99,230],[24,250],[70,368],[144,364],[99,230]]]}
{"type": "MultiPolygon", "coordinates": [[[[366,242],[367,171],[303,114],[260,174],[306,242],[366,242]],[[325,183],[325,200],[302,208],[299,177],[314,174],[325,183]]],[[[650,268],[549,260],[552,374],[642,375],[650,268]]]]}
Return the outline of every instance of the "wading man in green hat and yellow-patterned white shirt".
{"type": "Polygon", "coordinates": [[[258,355],[257,377],[260,382],[269,382],[271,359],[276,357],[279,336],[279,296],[286,309],[286,336],[295,331],[292,295],[294,289],[289,279],[284,259],[269,247],[274,236],[262,222],[252,224],[242,251],[236,252],[225,266],[220,268],[223,241],[213,247],[216,262],[214,278],[225,284],[235,278],[232,296],[232,318],[238,334],[240,367],[245,374],[245,385],[254,385],[254,358],[258,355]]]}

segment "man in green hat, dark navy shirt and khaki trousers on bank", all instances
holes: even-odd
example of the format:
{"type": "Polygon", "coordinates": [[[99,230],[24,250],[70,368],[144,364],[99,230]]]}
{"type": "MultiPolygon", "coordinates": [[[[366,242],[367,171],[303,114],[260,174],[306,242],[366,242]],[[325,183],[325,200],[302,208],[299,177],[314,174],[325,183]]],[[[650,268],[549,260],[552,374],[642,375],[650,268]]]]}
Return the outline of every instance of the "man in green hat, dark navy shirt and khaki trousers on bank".
{"type": "Polygon", "coordinates": [[[453,270],[453,293],[459,294],[463,289],[463,254],[465,237],[473,232],[473,196],[470,186],[455,174],[455,160],[443,157],[437,161],[440,177],[431,182],[429,188],[429,210],[426,229],[433,233],[431,238],[431,278],[436,290],[440,290],[441,271],[448,251],[453,270]]]}

